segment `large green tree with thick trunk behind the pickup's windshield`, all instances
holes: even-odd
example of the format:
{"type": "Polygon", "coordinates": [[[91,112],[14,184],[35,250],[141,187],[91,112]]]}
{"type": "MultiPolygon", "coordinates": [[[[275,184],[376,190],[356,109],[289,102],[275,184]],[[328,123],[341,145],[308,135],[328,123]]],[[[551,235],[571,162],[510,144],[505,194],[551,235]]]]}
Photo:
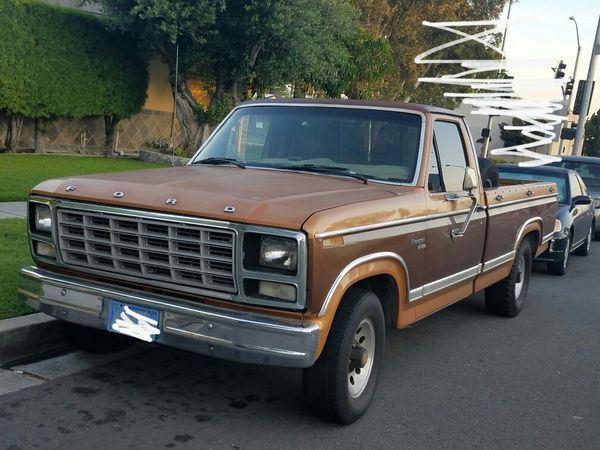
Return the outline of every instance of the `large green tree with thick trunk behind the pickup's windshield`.
{"type": "Polygon", "coordinates": [[[189,148],[197,148],[203,133],[188,79],[211,86],[210,108],[217,111],[277,84],[325,86],[339,80],[358,31],[358,10],[348,0],[97,1],[120,28],[163,56],[180,92],[177,114],[189,148]]]}

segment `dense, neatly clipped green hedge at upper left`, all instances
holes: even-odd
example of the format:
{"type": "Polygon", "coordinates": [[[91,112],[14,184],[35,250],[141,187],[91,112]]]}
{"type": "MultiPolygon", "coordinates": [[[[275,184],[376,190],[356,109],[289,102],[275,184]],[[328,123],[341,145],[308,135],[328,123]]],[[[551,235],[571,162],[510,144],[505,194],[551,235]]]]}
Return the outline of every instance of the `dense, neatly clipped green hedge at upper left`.
{"type": "Polygon", "coordinates": [[[25,117],[129,117],[146,62],[109,19],[37,0],[0,0],[0,110],[25,117]]]}

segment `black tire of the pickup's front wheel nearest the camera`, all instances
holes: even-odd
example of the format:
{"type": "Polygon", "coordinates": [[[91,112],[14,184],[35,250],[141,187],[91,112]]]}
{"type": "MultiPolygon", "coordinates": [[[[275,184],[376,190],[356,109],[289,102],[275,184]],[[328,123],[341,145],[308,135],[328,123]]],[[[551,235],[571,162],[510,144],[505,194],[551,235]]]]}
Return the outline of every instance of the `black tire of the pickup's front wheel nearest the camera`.
{"type": "MultiPolygon", "coordinates": [[[[304,369],[304,397],[311,412],[344,424],[360,418],[375,394],[384,344],[385,321],[381,302],[370,291],[352,289],[342,300],[321,356],[312,367],[304,369]],[[357,347],[365,349],[354,345],[355,336],[360,336],[360,342],[366,342],[366,347],[370,345],[368,339],[361,340],[361,333],[366,333],[362,327],[366,327],[366,331],[372,327],[370,329],[373,331],[370,335],[373,352],[368,354],[370,359],[367,360],[371,363],[369,372],[366,372],[368,369],[363,372],[365,367],[369,367],[369,362],[362,368],[351,370],[350,367],[353,347],[354,350],[357,347]],[[363,378],[355,382],[353,377],[360,377],[361,374],[363,378]]],[[[356,364],[356,356],[354,361],[356,364]]]]}

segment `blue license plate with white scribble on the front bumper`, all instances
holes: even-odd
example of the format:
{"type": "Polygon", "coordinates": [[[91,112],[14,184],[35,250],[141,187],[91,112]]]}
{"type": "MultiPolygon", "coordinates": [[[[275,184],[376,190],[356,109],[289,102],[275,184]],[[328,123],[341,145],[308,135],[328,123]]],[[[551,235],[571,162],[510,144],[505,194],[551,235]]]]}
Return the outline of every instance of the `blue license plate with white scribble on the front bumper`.
{"type": "Polygon", "coordinates": [[[156,309],[111,301],[108,331],[153,342],[160,334],[160,313],[156,309]]]}

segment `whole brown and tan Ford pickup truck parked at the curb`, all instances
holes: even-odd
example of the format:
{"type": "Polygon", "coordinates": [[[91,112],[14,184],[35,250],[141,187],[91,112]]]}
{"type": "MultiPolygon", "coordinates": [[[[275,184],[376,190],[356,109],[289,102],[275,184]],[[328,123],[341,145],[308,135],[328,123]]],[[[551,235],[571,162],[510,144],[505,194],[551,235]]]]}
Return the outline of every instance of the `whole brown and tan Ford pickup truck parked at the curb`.
{"type": "Polygon", "coordinates": [[[386,327],[482,289],[490,312],[521,310],[556,186],[497,181],[453,111],[250,102],[185,167],[36,186],[19,293],[85,349],[132,336],[304,368],[310,409],[350,423],[386,327]]]}

